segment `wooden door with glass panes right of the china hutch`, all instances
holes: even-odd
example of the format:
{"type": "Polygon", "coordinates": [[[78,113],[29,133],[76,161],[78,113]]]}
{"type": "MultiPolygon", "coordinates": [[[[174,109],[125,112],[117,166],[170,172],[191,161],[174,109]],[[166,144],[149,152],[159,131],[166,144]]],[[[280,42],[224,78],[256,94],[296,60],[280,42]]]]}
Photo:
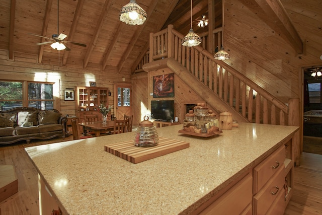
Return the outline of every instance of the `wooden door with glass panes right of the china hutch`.
{"type": "Polygon", "coordinates": [[[130,83],[114,84],[114,114],[117,119],[123,119],[124,115],[133,115],[131,94],[130,83]]]}

